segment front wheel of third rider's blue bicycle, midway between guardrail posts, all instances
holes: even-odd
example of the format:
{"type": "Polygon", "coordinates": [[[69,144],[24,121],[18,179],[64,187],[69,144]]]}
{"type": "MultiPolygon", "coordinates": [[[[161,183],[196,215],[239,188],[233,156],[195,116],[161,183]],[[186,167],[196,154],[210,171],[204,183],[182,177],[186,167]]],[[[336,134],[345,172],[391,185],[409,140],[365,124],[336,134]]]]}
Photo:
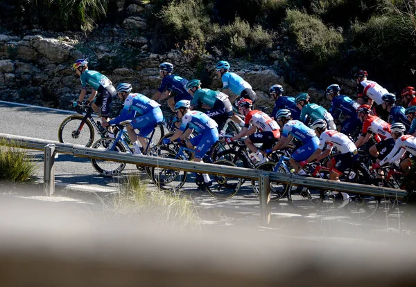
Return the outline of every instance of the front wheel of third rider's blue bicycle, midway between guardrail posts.
{"type": "MultiPolygon", "coordinates": [[[[176,159],[175,153],[161,154],[160,158],[176,159]]],[[[179,158],[182,160],[182,158],[179,158]]],[[[187,181],[187,172],[183,170],[165,169],[162,167],[150,167],[150,178],[156,187],[165,192],[178,192],[187,181]]]]}

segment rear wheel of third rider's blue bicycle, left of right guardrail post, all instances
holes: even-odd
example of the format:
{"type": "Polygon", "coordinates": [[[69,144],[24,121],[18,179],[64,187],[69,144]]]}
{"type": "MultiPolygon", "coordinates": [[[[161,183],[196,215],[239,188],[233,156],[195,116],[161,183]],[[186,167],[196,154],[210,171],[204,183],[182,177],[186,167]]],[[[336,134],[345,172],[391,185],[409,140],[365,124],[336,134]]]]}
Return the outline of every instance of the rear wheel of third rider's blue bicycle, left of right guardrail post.
{"type": "MultiPolygon", "coordinates": [[[[214,162],[214,165],[227,165],[229,167],[235,167],[234,163],[228,160],[217,160],[214,162]]],[[[219,167],[220,168],[220,167],[219,167]]],[[[242,178],[235,178],[231,176],[220,176],[210,174],[212,185],[210,187],[205,187],[205,190],[211,196],[214,196],[218,199],[227,199],[232,198],[239,192],[239,189],[242,185],[242,178]]]]}

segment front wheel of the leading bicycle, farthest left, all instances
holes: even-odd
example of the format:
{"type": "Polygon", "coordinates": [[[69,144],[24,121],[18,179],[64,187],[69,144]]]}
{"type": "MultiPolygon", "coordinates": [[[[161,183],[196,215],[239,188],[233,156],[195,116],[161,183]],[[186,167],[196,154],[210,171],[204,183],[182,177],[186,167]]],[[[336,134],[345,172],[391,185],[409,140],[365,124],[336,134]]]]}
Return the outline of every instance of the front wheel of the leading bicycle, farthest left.
{"type": "Polygon", "coordinates": [[[70,115],[64,119],[58,128],[59,142],[91,147],[95,137],[94,127],[88,119],[85,120],[83,127],[80,127],[84,117],[84,115],[70,115]],[[85,129],[85,124],[87,129],[85,129]]]}

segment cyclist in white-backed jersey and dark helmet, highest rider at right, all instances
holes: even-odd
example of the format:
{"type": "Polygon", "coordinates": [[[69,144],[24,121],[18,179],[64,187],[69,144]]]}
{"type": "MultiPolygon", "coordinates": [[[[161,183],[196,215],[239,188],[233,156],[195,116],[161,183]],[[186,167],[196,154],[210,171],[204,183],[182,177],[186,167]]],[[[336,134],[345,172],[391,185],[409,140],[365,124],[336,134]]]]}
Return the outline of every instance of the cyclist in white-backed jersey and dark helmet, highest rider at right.
{"type": "MultiPolygon", "coordinates": [[[[367,104],[372,107],[372,112],[379,115],[381,112],[381,96],[388,93],[386,89],[374,81],[367,80],[367,71],[358,71],[354,75],[357,84],[357,102],[358,104],[367,104]],[[374,102],[376,104],[374,104],[374,102]]],[[[381,112],[382,113],[382,112],[381,112]]]]}

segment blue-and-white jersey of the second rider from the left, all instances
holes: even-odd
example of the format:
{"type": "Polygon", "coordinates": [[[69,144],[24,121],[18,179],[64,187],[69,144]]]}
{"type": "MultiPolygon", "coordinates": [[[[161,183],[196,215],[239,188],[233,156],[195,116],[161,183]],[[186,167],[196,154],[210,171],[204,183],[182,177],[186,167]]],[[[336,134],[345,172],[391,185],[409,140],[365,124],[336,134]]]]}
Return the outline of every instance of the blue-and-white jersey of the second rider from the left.
{"type": "Polygon", "coordinates": [[[146,95],[140,93],[130,93],[124,101],[124,107],[118,117],[110,120],[109,124],[119,124],[124,120],[132,120],[138,115],[150,113],[153,109],[159,108],[154,100],[150,100],[146,95]]]}

